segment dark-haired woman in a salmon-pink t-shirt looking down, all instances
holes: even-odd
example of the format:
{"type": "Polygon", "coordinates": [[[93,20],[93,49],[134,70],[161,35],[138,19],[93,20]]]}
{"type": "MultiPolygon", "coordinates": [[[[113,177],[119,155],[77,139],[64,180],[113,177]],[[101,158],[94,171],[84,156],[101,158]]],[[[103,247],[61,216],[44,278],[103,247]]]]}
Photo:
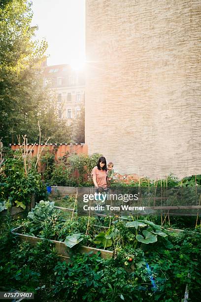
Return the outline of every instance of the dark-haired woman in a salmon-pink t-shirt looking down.
{"type": "Polygon", "coordinates": [[[102,190],[107,190],[107,163],[104,156],[100,156],[97,166],[95,166],[92,170],[92,177],[95,189],[97,192],[101,192],[102,190]]]}

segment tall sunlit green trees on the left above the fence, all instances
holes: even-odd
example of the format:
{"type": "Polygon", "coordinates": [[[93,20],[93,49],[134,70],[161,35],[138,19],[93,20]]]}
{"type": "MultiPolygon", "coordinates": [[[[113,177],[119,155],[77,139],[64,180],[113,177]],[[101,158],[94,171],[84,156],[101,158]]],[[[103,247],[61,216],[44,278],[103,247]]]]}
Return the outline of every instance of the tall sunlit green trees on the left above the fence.
{"type": "Polygon", "coordinates": [[[42,142],[52,136],[54,143],[68,143],[71,128],[58,118],[55,100],[43,88],[41,62],[47,42],[33,40],[37,28],[31,26],[32,3],[0,4],[0,137],[4,145],[17,143],[22,134],[38,142],[39,120],[42,142]]]}

